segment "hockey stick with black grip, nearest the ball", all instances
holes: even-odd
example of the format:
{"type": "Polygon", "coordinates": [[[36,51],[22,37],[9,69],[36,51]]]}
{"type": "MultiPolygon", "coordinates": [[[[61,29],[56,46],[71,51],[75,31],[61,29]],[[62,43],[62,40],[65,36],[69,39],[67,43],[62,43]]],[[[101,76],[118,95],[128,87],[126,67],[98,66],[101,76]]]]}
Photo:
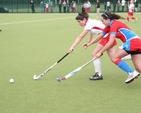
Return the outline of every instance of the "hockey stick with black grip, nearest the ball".
{"type": "Polygon", "coordinates": [[[56,66],[59,62],[61,62],[61,60],[63,60],[69,53],[65,54],[60,60],[58,60],[57,62],[55,62],[52,66],[50,66],[48,69],[46,69],[43,73],[41,73],[40,75],[34,75],[33,79],[34,80],[38,80],[39,78],[41,78],[42,76],[44,76],[48,71],[50,71],[54,66],[56,66]]]}

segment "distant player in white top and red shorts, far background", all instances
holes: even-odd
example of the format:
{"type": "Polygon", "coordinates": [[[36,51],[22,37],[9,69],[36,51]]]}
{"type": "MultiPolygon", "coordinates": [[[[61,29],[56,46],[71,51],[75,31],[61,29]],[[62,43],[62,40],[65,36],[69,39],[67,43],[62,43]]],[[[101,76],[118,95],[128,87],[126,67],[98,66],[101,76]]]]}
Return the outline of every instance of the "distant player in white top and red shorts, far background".
{"type": "Polygon", "coordinates": [[[127,17],[126,17],[127,21],[129,22],[129,19],[133,19],[135,21],[137,21],[137,18],[134,17],[134,4],[133,4],[133,0],[131,0],[128,4],[128,12],[127,12],[127,17]]]}

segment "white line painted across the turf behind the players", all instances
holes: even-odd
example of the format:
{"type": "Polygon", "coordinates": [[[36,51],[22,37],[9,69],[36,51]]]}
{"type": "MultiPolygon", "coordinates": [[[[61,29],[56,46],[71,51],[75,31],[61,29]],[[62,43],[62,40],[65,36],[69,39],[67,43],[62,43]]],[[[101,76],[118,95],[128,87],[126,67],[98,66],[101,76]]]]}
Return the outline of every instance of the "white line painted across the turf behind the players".
{"type": "Polygon", "coordinates": [[[31,20],[31,21],[20,21],[20,22],[9,22],[9,23],[1,23],[0,25],[24,24],[24,23],[31,23],[31,22],[43,22],[43,21],[52,21],[52,20],[63,20],[63,19],[68,19],[68,18],[74,18],[74,17],[52,18],[52,19],[31,20]]]}

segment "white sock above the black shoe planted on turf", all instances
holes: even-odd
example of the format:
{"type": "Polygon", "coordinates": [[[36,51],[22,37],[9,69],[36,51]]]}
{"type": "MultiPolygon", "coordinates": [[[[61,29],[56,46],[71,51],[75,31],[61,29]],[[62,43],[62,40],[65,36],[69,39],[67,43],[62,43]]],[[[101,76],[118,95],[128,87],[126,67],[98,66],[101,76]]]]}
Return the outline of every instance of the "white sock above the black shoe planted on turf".
{"type": "Polygon", "coordinates": [[[101,76],[102,72],[101,72],[101,61],[100,61],[100,58],[95,59],[93,61],[93,64],[94,64],[95,73],[98,72],[98,75],[101,76]]]}

